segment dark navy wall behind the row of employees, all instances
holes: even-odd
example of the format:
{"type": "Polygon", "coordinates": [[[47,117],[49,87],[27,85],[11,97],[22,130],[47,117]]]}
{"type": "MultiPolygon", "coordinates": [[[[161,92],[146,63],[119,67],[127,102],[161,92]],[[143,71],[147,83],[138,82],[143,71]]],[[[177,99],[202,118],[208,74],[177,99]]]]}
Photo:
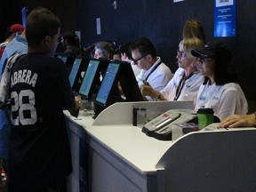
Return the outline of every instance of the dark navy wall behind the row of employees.
{"type": "MultiPolygon", "coordinates": [[[[141,36],[148,36],[156,45],[156,52],[172,72],[177,69],[176,49],[186,20],[200,20],[204,24],[207,41],[214,39],[212,0],[204,0],[204,4],[202,0],[186,0],[176,4],[173,0],[116,2],[116,9],[112,5],[114,0],[24,0],[21,4],[25,4],[28,11],[36,6],[49,8],[60,17],[62,31],[81,31],[81,43],[84,46],[105,40],[124,44],[141,36]],[[101,35],[96,34],[97,18],[101,20],[101,35]]],[[[227,42],[234,50],[233,65],[252,112],[256,110],[256,2],[246,0],[245,3],[245,0],[236,0],[236,4],[237,35],[220,40],[227,42]]],[[[3,22],[2,17],[0,20],[3,22]]]]}

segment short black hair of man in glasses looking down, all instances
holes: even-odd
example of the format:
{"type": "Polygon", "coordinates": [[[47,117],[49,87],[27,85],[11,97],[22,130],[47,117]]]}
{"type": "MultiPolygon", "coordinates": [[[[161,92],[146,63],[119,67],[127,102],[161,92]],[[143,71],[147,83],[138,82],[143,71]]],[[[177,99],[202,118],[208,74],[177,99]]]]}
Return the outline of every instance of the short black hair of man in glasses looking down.
{"type": "Polygon", "coordinates": [[[131,51],[135,49],[138,49],[141,55],[150,54],[153,58],[156,58],[156,48],[147,37],[142,37],[132,43],[131,51]]]}

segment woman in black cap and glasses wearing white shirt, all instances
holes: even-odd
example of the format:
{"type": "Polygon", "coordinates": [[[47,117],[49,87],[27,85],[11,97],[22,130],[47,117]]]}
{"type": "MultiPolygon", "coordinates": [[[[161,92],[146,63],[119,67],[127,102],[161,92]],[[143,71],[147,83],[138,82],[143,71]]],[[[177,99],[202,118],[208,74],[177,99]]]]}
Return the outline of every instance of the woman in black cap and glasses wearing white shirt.
{"type": "Polygon", "coordinates": [[[196,57],[199,72],[205,76],[197,94],[195,110],[212,108],[214,116],[220,120],[234,114],[245,115],[247,100],[236,76],[229,72],[232,52],[228,45],[212,42],[202,49],[192,50],[191,54],[196,57]]]}

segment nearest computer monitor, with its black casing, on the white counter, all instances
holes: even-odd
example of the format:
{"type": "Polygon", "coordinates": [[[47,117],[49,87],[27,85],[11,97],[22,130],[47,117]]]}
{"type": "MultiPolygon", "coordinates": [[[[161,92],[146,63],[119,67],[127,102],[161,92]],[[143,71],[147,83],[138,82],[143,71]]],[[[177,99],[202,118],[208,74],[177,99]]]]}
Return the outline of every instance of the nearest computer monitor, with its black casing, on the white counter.
{"type": "MultiPolygon", "coordinates": [[[[124,61],[110,61],[95,100],[96,110],[97,107],[100,110],[107,108],[115,102],[142,100],[131,64],[124,61]]],[[[99,113],[100,111],[95,111],[95,116],[99,113]]]]}

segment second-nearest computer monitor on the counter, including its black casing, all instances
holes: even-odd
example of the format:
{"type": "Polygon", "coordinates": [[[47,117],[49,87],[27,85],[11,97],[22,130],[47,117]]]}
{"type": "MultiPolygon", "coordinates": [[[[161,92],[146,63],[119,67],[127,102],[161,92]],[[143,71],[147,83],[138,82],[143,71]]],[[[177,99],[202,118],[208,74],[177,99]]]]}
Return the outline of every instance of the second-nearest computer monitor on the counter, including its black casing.
{"type": "Polygon", "coordinates": [[[94,100],[99,91],[101,79],[106,73],[109,60],[90,59],[78,94],[86,100],[94,100]],[[93,99],[94,98],[94,99],[93,99]]]}

